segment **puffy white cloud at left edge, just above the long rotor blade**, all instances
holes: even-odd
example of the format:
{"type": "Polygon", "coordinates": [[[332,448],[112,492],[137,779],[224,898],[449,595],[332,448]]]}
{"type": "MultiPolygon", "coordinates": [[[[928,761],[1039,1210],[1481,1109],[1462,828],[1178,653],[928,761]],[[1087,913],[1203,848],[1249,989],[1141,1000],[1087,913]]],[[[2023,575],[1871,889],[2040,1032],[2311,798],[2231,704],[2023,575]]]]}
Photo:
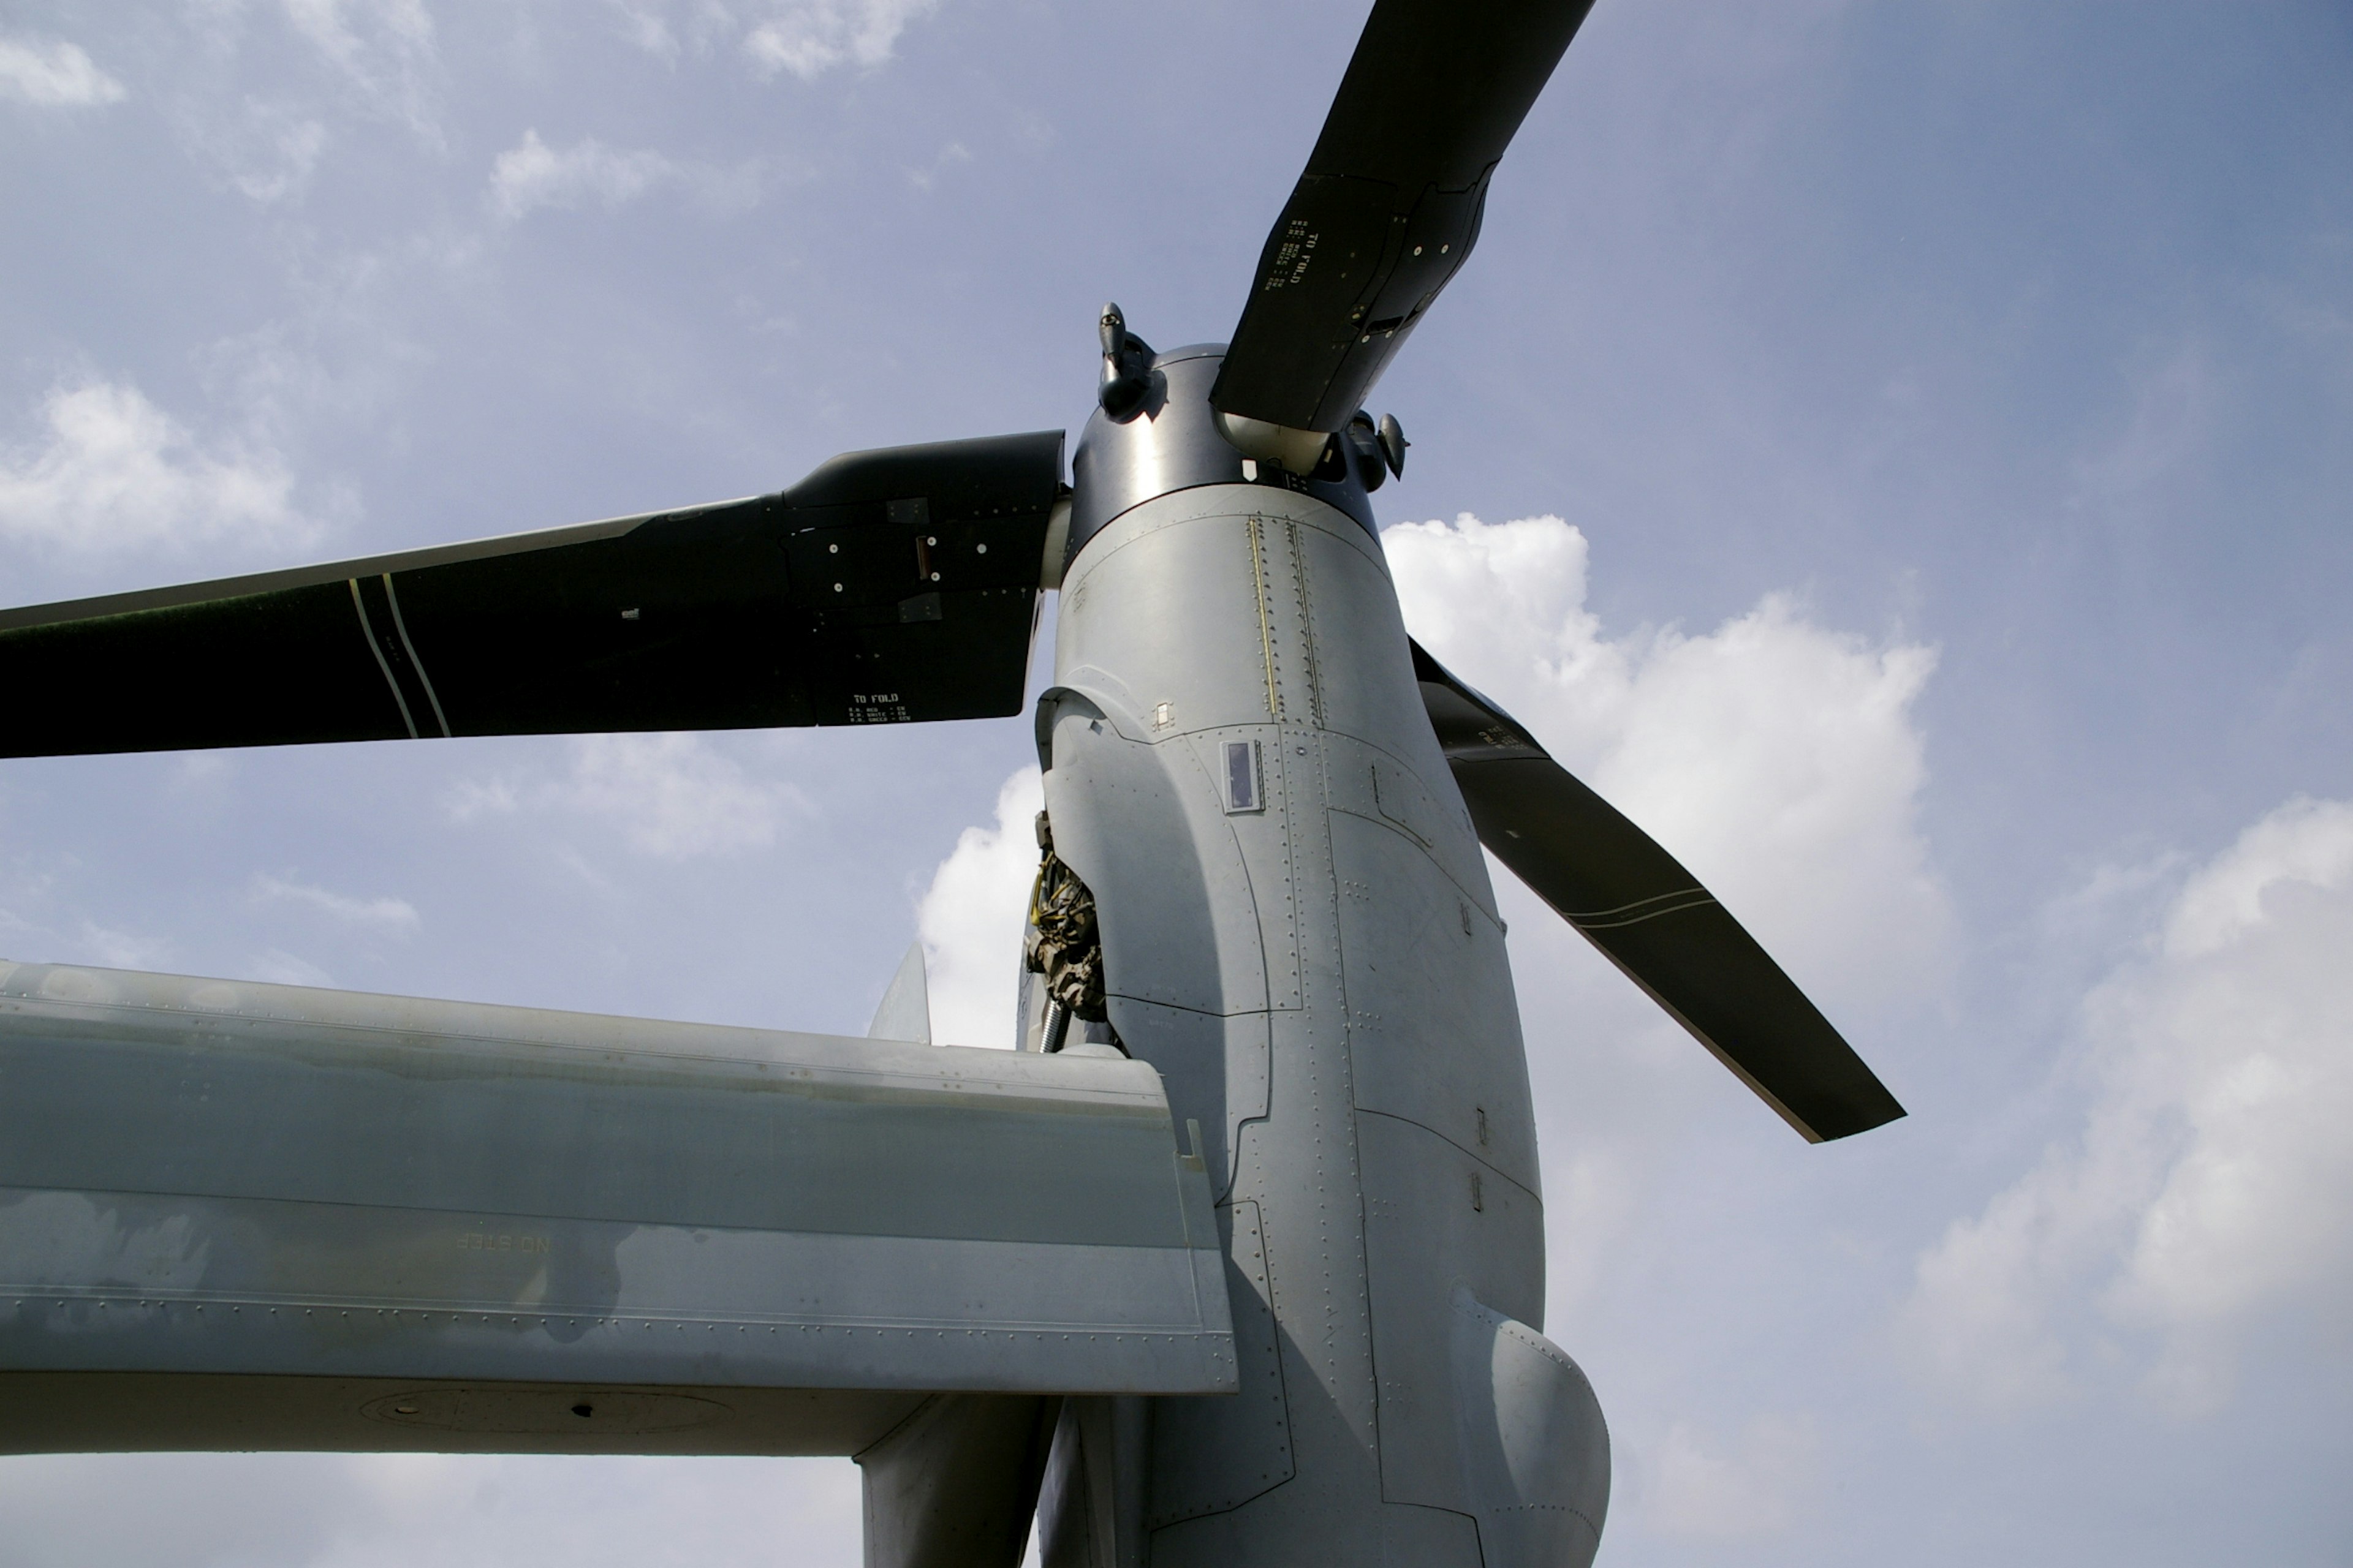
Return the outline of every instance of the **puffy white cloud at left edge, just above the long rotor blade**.
{"type": "Polygon", "coordinates": [[[294,475],[266,444],[202,447],[129,383],[49,388],[45,440],[0,451],[0,538],[96,555],[198,543],[294,545],[294,475]]]}

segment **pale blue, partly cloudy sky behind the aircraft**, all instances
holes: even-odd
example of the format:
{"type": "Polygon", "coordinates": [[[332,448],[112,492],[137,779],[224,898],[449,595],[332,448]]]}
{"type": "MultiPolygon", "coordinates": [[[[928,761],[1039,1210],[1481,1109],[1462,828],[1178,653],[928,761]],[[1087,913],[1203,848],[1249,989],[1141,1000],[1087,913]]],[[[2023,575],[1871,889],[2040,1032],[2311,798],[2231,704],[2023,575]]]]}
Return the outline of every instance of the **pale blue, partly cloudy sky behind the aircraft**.
{"type": "MultiPolygon", "coordinates": [[[[1360,0],[0,5],[0,602],[1071,428],[1360,0]]],[[[1374,390],[1407,623],[1911,1117],[1494,870],[1600,1563],[2353,1554],[2353,9],[1600,0],[1374,390]]],[[[1047,628],[1049,630],[1049,628],[1047,628]]],[[[12,691],[38,703],[38,691],[12,691]]],[[[1026,719],[12,762],[0,954],[1007,1044],[1026,719]]],[[[854,1563],[845,1460],[0,1460],[0,1566],[854,1563]]]]}

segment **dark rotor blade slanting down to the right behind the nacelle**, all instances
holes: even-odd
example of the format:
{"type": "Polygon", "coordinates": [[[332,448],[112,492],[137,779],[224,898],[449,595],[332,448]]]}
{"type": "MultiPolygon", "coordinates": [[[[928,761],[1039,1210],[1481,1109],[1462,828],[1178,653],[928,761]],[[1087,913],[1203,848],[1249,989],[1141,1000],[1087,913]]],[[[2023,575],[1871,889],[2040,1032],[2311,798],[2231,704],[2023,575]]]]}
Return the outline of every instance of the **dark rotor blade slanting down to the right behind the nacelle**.
{"type": "Polygon", "coordinates": [[[1480,844],[1812,1143],[1904,1114],[1692,872],[1421,644],[1414,677],[1480,844]]]}

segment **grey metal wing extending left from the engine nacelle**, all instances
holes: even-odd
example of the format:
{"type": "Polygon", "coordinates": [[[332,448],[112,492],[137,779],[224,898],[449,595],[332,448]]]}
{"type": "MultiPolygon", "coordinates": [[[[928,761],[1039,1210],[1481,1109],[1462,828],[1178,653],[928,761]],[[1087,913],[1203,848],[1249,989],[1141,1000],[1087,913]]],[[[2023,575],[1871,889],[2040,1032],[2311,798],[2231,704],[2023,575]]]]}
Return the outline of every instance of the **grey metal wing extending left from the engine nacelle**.
{"type": "Polygon", "coordinates": [[[854,1453],[1233,1366],[1144,1063],[0,964],[0,1450],[854,1453]]]}

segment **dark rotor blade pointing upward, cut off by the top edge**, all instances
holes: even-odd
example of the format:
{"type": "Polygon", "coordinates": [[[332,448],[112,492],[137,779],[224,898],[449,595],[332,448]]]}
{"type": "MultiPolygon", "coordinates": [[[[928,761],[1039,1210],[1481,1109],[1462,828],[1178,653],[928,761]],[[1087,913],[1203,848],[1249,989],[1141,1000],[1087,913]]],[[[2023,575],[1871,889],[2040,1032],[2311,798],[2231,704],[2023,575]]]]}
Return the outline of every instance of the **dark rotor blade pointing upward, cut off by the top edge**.
{"type": "Polygon", "coordinates": [[[1478,242],[1487,176],[1593,0],[1379,0],[1266,235],[1209,402],[1339,430],[1478,242]]]}

